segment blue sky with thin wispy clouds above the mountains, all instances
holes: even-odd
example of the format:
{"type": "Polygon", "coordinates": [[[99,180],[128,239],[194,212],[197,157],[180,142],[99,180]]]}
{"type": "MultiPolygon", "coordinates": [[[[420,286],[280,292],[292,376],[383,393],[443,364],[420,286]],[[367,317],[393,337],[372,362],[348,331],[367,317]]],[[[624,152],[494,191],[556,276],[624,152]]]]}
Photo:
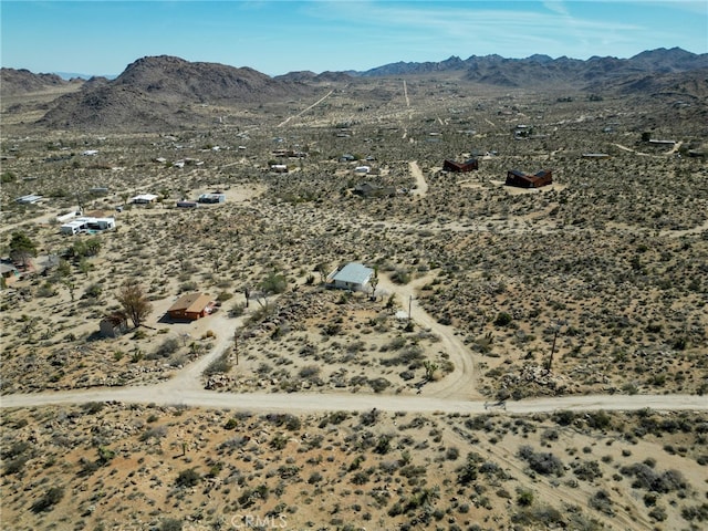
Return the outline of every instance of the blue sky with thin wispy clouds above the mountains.
{"type": "Polygon", "coordinates": [[[119,74],[177,55],[269,75],[497,53],[708,52],[708,0],[0,1],[2,66],[119,74]]]}

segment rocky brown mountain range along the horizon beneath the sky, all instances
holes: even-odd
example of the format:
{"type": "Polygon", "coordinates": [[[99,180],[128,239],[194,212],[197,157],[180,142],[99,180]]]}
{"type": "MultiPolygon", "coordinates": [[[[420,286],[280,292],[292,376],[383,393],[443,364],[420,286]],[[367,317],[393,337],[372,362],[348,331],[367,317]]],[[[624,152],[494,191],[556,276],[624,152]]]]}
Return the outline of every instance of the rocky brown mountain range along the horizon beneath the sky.
{"type": "MultiPolygon", "coordinates": [[[[688,86],[695,96],[708,93],[708,53],[679,48],[642,52],[629,59],[577,60],[531,55],[451,56],[440,62],[397,62],[365,72],[291,72],[268,76],[249,67],[188,62],[179,58],[146,56],[131,63],[113,80],[63,80],[56,74],[33,74],[2,69],[3,97],[81,85],[49,105],[37,125],[49,128],[101,129],[131,124],[138,128],[163,128],[192,123],[192,104],[259,104],[283,98],[310,97],[321,84],[366,83],[382,77],[444,75],[448,80],[500,87],[564,88],[587,92],[646,93],[667,86],[688,86]]],[[[690,94],[689,94],[690,95],[690,94]]]]}

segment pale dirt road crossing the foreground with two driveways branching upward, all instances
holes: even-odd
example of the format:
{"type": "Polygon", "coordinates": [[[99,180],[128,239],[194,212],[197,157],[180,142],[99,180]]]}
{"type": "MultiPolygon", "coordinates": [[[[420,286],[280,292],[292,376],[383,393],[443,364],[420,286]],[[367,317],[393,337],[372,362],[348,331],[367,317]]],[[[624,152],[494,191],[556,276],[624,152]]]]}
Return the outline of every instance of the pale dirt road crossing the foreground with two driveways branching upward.
{"type": "Polygon", "coordinates": [[[708,397],[695,395],[601,395],[534,398],[504,404],[490,404],[475,391],[475,367],[471,352],[465,346],[454,329],[438,323],[415,304],[416,290],[430,280],[416,279],[398,285],[382,275],[378,289],[396,293],[402,308],[412,309],[410,315],[417,326],[429,329],[440,337],[440,348],[449,355],[455,369],[439,382],[426,385],[418,396],[379,395],[364,393],[219,393],[205,391],[201,373],[221,353],[231,347],[233,331],[241,325],[240,317],[215,315],[210,323],[217,332],[217,342],[211,352],[185,367],[174,378],[154,385],[132,387],[105,387],[85,391],[48,392],[4,395],[0,407],[38,407],[60,404],[85,404],[90,402],[121,402],[137,404],[184,405],[241,410],[279,410],[293,413],[366,410],[377,408],[387,412],[415,413],[485,413],[503,410],[514,414],[570,410],[708,410],[708,397]]]}

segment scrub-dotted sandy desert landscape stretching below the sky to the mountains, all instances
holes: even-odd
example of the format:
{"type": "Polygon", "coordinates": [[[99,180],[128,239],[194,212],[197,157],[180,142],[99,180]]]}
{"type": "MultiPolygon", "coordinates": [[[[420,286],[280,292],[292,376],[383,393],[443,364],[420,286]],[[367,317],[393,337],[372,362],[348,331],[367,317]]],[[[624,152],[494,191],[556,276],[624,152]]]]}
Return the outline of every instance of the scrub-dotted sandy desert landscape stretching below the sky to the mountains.
{"type": "Polygon", "coordinates": [[[2,69],[3,528],[704,529],[681,52],[2,69]]]}

